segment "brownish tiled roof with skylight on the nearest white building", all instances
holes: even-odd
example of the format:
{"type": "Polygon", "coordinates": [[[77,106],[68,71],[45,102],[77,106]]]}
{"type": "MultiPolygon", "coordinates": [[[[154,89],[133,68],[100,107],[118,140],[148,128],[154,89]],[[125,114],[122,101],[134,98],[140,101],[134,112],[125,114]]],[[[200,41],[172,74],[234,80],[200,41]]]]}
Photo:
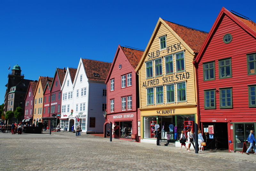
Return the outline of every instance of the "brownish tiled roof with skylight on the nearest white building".
{"type": "Polygon", "coordinates": [[[105,82],[111,67],[110,62],[82,59],[85,74],[89,81],[105,82]],[[99,74],[96,75],[95,74],[99,74]]]}

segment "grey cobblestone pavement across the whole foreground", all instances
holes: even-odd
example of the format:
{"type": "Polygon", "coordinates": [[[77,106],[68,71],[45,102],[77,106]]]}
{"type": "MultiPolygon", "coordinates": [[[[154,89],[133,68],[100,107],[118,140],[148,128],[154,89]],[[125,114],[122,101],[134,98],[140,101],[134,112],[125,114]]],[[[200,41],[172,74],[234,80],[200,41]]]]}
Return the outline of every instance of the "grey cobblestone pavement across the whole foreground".
{"type": "MultiPolygon", "coordinates": [[[[184,148],[184,147],[183,147],[184,148]]],[[[256,170],[256,155],[188,152],[82,133],[0,133],[0,170],[256,170]]]]}

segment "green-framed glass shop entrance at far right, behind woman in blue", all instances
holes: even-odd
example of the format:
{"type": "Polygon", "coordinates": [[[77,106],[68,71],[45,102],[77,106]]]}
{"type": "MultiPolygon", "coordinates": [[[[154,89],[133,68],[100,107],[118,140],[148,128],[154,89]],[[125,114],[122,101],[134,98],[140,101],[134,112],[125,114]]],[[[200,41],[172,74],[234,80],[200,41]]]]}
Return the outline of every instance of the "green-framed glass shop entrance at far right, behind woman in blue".
{"type": "Polygon", "coordinates": [[[255,124],[254,123],[241,123],[241,124],[233,124],[235,125],[235,133],[234,133],[234,143],[236,151],[242,151],[244,142],[246,142],[247,146],[250,145],[247,139],[250,135],[250,131],[253,130],[255,132],[255,124]]]}

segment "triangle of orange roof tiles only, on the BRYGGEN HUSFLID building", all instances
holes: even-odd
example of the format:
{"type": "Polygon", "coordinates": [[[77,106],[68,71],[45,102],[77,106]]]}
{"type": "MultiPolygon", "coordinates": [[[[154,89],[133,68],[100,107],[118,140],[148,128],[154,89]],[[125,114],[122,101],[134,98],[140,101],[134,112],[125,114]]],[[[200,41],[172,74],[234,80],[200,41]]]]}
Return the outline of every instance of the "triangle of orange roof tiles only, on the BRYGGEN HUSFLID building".
{"type": "Polygon", "coordinates": [[[134,69],[136,69],[144,51],[131,49],[131,48],[128,48],[128,47],[122,47],[122,46],[121,46],[121,48],[122,48],[125,56],[129,60],[129,62],[131,63],[132,67],[134,69]]]}

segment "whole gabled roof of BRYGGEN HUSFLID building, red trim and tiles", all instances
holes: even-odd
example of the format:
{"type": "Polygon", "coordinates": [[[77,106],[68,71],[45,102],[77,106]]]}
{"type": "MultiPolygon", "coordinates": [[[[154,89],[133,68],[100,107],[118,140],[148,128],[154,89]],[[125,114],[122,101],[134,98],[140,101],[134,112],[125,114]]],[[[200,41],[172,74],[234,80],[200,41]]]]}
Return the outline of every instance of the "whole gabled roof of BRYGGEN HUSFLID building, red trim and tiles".
{"type": "Polygon", "coordinates": [[[122,46],[118,45],[115,57],[113,59],[113,62],[112,62],[111,67],[110,67],[110,70],[108,72],[107,79],[105,81],[105,84],[107,84],[107,82],[109,80],[109,77],[110,77],[110,75],[112,73],[113,67],[114,67],[114,65],[116,63],[116,58],[117,58],[119,53],[123,53],[124,54],[124,56],[130,62],[130,65],[133,68],[133,71],[135,72],[135,68],[138,66],[144,51],[140,51],[140,50],[136,50],[136,49],[132,49],[132,48],[128,48],[128,47],[122,47],[122,46]]]}

